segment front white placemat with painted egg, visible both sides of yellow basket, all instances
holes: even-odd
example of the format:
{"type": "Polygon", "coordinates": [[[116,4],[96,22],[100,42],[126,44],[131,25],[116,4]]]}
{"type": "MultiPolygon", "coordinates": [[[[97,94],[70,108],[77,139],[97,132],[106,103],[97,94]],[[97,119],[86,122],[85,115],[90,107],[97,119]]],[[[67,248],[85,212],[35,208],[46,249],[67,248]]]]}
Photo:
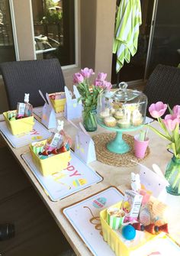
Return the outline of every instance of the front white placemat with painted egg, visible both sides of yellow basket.
{"type": "MultiPolygon", "coordinates": [[[[101,224],[99,212],[102,209],[120,202],[124,196],[115,187],[109,187],[96,193],[79,203],[74,203],[63,209],[63,214],[69,220],[73,228],[85,242],[85,245],[95,256],[115,256],[108,243],[103,240],[99,228],[101,224]]],[[[172,239],[158,238],[150,243],[146,243],[140,248],[140,251],[133,251],[130,256],[179,256],[180,248],[172,239]]],[[[125,256],[125,255],[124,255],[125,256]]]]}

